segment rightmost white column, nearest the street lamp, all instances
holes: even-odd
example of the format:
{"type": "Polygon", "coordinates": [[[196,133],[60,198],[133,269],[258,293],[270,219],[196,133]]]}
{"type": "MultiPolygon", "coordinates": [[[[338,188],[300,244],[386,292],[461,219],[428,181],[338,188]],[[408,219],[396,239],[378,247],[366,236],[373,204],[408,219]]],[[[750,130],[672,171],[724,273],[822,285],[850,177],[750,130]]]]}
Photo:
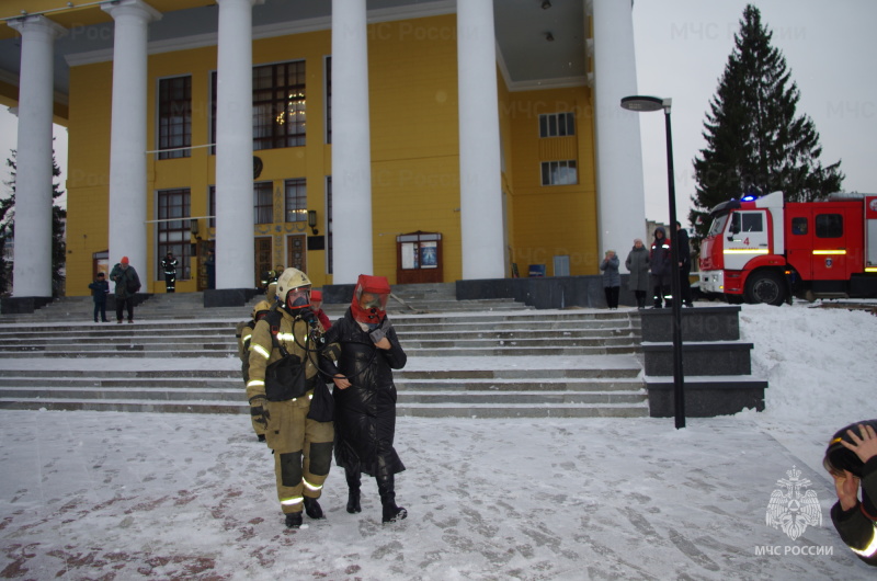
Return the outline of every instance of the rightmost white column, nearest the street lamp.
{"type": "MultiPolygon", "coordinates": [[[[633,2],[589,1],[594,19],[594,130],[600,251],[624,252],[646,240],[646,193],[637,113],[620,106],[637,94],[633,2]]],[[[657,145],[656,145],[657,147],[657,145]]]]}

